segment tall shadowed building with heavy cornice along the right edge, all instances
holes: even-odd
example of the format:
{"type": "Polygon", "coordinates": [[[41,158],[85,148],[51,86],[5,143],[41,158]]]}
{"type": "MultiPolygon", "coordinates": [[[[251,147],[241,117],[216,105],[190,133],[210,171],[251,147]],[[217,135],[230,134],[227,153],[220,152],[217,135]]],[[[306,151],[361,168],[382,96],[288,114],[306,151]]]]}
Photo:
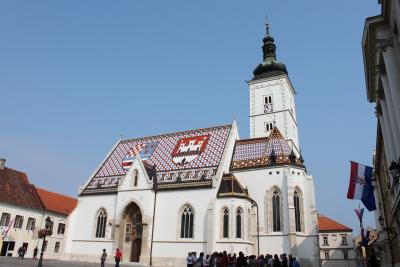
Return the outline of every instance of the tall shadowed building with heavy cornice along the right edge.
{"type": "Polygon", "coordinates": [[[375,194],[382,266],[400,266],[400,2],[381,0],[367,18],[362,48],[367,98],[376,103],[375,194]]]}

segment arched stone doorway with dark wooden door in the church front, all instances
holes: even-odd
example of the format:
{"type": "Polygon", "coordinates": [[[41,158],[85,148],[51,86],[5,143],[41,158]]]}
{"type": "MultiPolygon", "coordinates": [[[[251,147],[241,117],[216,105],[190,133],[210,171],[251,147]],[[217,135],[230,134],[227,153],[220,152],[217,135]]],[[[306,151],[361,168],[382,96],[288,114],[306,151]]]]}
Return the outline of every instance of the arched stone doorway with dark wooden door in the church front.
{"type": "Polygon", "coordinates": [[[130,203],[123,216],[124,252],[131,262],[139,262],[142,251],[142,212],[136,203],[130,203]]]}

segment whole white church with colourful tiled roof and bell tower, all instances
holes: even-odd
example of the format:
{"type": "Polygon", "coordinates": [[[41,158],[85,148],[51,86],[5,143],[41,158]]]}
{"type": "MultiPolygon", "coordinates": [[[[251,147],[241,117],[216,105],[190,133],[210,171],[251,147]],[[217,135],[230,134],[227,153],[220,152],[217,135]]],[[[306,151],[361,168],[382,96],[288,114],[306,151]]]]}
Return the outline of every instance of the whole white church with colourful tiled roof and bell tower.
{"type": "Polygon", "coordinates": [[[103,248],[119,248],[123,262],[185,266],[189,251],[226,250],[292,254],[301,266],[319,266],[295,90],[269,33],[263,43],[248,82],[250,138],[240,139],[233,122],[118,140],[80,190],[69,259],[98,261],[103,248]]]}

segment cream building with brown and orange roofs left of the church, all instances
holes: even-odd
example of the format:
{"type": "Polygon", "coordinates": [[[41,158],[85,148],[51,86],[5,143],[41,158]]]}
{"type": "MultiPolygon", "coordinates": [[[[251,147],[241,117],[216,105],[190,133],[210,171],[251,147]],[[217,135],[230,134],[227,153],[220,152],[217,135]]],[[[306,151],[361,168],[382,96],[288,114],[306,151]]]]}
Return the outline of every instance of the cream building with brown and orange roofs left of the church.
{"type": "MultiPolygon", "coordinates": [[[[76,199],[35,188],[25,173],[4,166],[0,168],[0,234],[11,223],[8,234],[0,235],[0,256],[17,256],[18,248],[26,248],[26,257],[33,256],[35,247],[41,249],[38,230],[44,228],[49,216],[53,234],[46,237],[47,258],[59,257],[63,252],[67,217],[76,206],[76,199]]],[[[39,256],[39,255],[38,255],[39,256]]]]}

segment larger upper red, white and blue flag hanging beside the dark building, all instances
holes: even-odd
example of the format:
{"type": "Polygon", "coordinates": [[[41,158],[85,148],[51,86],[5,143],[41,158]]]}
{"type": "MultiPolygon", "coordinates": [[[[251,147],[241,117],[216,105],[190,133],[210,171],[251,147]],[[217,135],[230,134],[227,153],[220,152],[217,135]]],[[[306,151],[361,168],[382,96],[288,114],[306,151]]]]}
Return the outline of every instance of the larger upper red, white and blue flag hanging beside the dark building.
{"type": "Polygon", "coordinates": [[[348,199],[360,199],[369,210],[376,210],[374,187],[372,186],[372,167],[351,161],[348,199]]]}

